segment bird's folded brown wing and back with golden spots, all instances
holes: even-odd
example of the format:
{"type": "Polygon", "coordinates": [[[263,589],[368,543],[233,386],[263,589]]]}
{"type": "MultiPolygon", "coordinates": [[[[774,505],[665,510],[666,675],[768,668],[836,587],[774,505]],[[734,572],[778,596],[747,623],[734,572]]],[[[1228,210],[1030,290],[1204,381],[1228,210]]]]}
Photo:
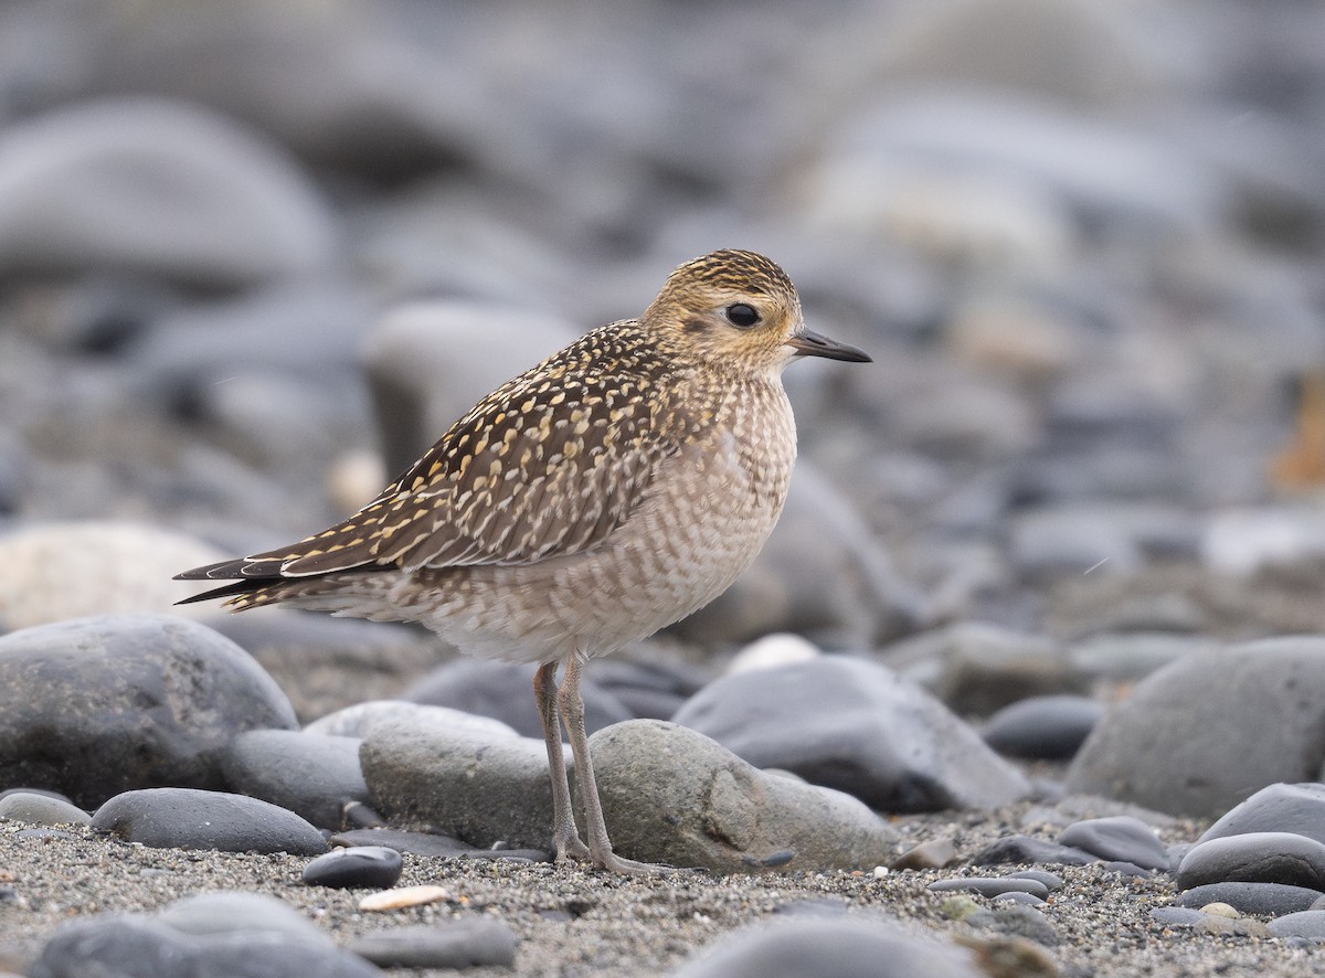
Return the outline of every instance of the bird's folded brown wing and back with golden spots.
{"type": "MultiPolygon", "coordinates": [[[[598,333],[598,331],[596,331],[598,333]]],[[[613,370],[595,334],[504,384],[342,523],[188,576],[533,563],[588,550],[645,497],[678,451],[651,370],[613,370]]]]}

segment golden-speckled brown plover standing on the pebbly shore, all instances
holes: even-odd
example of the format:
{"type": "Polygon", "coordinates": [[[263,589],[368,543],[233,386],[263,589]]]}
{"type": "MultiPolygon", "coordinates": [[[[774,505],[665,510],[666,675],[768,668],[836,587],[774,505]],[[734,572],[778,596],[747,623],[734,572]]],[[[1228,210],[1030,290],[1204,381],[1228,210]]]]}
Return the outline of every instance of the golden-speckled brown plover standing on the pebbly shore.
{"type": "Polygon", "coordinates": [[[231,582],[182,603],[415,622],[461,652],[537,663],[555,861],[669,871],[612,849],[580,673],[704,607],[758,555],[796,457],[782,371],[804,356],[871,360],[806,326],[771,260],[694,258],[639,318],[588,331],[480,400],[343,522],[176,575],[231,582]]]}

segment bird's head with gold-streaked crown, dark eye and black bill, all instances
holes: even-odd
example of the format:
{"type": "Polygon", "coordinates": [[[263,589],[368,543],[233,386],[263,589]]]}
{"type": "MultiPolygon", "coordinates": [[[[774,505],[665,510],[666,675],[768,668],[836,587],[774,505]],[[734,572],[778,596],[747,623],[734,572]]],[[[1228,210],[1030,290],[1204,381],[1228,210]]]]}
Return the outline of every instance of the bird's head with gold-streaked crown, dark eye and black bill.
{"type": "Polygon", "coordinates": [[[787,273],[754,252],[729,248],[678,266],[643,322],[672,349],[753,372],[778,374],[798,356],[869,360],[806,329],[787,273]]]}

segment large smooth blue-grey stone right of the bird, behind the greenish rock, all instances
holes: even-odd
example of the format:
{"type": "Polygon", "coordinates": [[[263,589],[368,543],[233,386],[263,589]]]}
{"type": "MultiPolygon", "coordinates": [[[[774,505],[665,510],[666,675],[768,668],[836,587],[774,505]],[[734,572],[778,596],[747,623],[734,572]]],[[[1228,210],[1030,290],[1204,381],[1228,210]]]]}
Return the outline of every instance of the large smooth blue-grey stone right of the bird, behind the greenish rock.
{"type": "Polygon", "coordinates": [[[1030,790],[929,693],[860,659],[727,676],[674,720],[757,767],[792,771],[888,812],[996,807],[1030,790]]]}

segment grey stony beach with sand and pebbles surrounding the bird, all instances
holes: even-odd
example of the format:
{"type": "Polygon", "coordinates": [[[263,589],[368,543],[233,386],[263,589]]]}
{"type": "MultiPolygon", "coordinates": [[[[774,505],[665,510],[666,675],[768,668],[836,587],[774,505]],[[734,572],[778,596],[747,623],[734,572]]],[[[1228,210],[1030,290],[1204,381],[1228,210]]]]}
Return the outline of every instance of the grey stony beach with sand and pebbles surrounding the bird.
{"type": "Polygon", "coordinates": [[[759,921],[749,973],[1312,969],[1322,37],[1287,0],[5,4],[0,970],[371,974],[391,932],[738,974],[759,921]],[[765,554],[587,673],[617,844],[722,873],[539,861],[521,671],[174,606],[719,246],[874,356],[788,370],[765,554]]]}

